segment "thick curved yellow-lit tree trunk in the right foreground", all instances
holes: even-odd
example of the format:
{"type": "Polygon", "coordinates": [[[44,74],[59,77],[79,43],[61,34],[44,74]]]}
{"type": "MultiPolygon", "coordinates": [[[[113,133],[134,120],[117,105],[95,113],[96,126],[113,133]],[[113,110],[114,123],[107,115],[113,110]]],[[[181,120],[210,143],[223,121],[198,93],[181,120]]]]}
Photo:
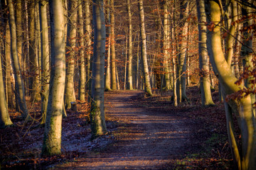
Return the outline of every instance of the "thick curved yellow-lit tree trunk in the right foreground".
{"type": "MultiPolygon", "coordinates": [[[[206,8],[208,11],[207,23],[207,47],[210,56],[210,62],[213,65],[213,70],[218,79],[220,80],[221,90],[224,98],[233,94],[240,89],[245,88],[244,84],[235,84],[238,79],[230,68],[223,50],[221,47],[221,35],[220,35],[220,4],[217,1],[206,1],[206,8]]],[[[252,113],[252,103],[250,96],[244,98],[233,99],[227,98],[225,102],[225,113],[228,126],[228,138],[230,141],[230,147],[233,152],[233,160],[235,162],[236,169],[256,169],[255,167],[255,116],[252,113]],[[238,125],[241,133],[241,148],[238,148],[238,143],[233,128],[233,114],[238,119],[238,125]]]]}

